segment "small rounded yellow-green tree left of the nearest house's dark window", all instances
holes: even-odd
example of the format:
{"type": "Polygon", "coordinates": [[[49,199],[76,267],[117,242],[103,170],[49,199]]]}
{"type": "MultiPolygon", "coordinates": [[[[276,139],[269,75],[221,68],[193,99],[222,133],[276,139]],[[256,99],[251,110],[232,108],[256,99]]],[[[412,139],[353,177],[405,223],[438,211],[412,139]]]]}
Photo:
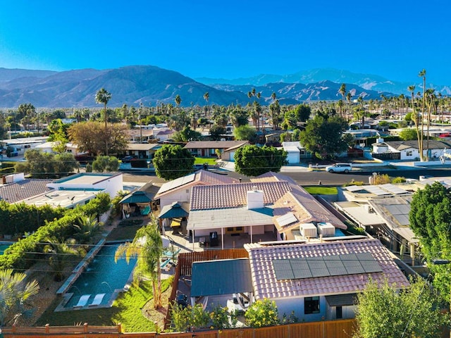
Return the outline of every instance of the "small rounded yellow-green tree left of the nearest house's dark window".
{"type": "Polygon", "coordinates": [[[280,324],[275,301],[259,299],[245,313],[246,323],[250,327],[275,326],[280,324]]]}

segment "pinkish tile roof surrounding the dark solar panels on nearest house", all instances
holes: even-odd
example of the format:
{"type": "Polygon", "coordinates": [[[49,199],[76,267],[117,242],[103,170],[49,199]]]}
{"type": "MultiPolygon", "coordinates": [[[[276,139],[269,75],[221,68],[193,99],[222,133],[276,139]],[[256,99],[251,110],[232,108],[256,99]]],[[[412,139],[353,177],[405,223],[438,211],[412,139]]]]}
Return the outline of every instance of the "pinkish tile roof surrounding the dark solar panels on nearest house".
{"type": "Polygon", "coordinates": [[[407,287],[409,282],[395,261],[378,239],[359,239],[339,242],[315,242],[264,246],[245,244],[249,251],[252,283],[257,299],[278,299],[289,297],[322,296],[330,294],[350,294],[362,291],[371,280],[397,287],[407,287]],[[335,256],[347,253],[371,253],[380,265],[382,273],[360,273],[328,277],[311,277],[297,280],[276,280],[273,260],[335,256]]]}

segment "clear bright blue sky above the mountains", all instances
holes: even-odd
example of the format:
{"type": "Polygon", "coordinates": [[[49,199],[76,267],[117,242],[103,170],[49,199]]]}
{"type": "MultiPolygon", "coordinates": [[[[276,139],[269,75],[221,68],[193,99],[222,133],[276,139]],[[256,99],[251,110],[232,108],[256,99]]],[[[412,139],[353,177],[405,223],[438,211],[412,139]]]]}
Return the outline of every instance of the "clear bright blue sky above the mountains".
{"type": "Polygon", "coordinates": [[[0,67],[189,77],[338,68],[451,84],[449,1],[0,0],[0,67]]]}

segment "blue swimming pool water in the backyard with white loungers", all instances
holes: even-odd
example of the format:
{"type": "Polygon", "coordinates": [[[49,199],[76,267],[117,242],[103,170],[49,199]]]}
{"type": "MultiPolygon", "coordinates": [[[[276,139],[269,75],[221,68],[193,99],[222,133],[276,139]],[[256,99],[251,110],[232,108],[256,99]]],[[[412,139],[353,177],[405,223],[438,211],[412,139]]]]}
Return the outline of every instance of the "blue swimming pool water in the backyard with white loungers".
{"type": "Polygon", "coordinates": [[[85,271],[69,287],[67,293],[73,293],[65,308],[76,306],[82,295],[91,295],[87,305],[92,303],[96,294],[105,294],[99,306],[109,303],[116,289],[123,289],[135,268],[136,258],[130,259],[127,264],[125,259],[114,262],[114,253],[120,244],[104,244],[92,261],[87,265],[85,271]]]}

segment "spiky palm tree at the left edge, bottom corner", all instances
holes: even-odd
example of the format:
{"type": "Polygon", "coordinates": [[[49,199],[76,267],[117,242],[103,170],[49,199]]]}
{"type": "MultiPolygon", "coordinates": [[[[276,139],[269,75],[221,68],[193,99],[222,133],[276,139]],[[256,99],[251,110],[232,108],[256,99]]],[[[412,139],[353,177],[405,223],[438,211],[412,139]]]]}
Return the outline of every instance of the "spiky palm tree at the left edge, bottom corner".
{"type": "Polygon", "coordinates": [[[25,301],[39,292],[36,280],[25,284],[25,273],[13,273],[12,269],[0,270],[0,326],[16,324],[22,315],[31,315],[25,301]]]}

